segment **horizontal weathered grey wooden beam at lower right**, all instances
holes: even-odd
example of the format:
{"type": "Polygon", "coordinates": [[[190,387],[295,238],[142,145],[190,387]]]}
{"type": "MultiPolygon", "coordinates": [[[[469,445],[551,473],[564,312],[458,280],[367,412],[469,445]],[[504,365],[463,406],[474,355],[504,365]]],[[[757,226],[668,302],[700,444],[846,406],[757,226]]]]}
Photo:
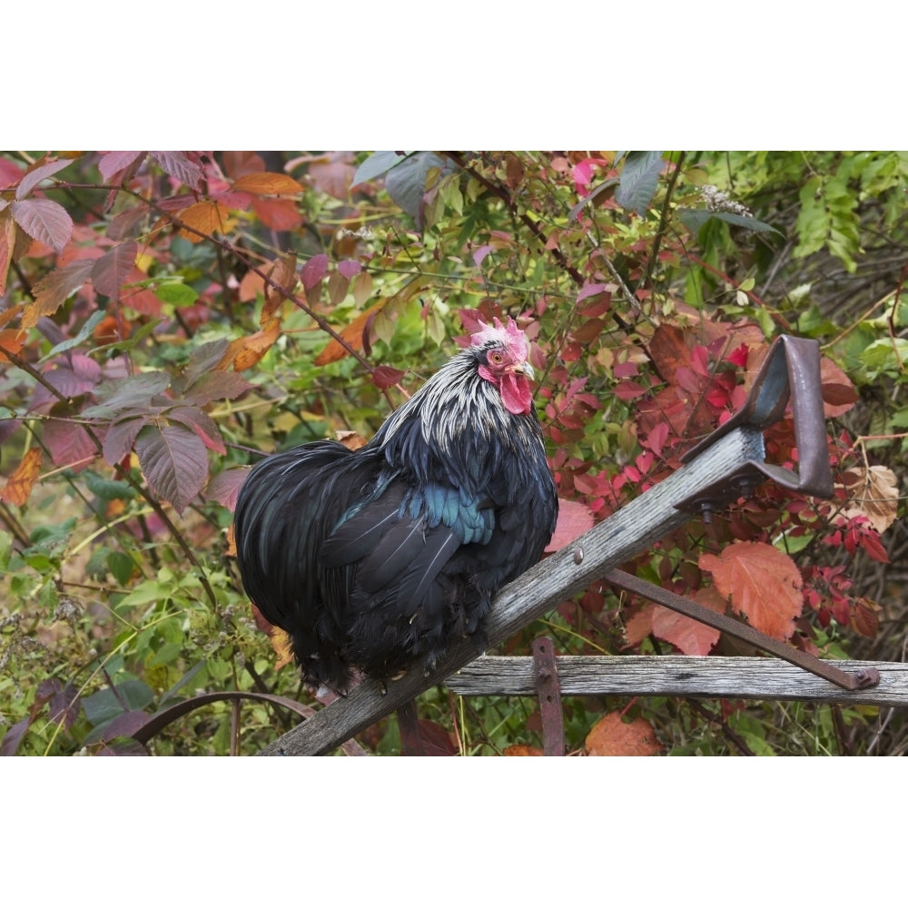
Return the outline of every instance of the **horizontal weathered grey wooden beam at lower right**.
{"type": "MultiPolygon", "coordinates": [[[[564,696],[690,696],[908,706],[908,664],[836,659],[879,669],[875,687],[847,691],[781,659],[750,656],[556,656],[564,696]]],[[[530,656],[482,656],[445,684],[464,696],[537,696],[530,656]]]]}

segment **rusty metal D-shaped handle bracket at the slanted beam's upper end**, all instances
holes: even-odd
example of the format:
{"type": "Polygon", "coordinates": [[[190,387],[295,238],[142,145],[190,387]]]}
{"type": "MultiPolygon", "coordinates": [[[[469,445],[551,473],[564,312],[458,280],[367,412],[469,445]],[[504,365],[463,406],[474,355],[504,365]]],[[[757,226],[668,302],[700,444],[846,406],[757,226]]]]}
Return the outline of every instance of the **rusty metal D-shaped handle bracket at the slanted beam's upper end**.
{"type": "Polygon", "coordinates": [[[739,427],[766,429],[785,414],[791,400],[795,417],[798,472],[757,460],[748,460],[734,473],[717,480],[696,495],[676,502],[681,510],[700,511],[708,521],[713,511],[748,496],[759,483],[773,479],[785,489],[817,498],[832,498],[833,473],[826,447],[823,393],[820,382],[820,345],[816,341],[783,335],[773,341],[754,387],[723,426],[706,436],[681,458],[696,458],[719,439],[739,427]]]}

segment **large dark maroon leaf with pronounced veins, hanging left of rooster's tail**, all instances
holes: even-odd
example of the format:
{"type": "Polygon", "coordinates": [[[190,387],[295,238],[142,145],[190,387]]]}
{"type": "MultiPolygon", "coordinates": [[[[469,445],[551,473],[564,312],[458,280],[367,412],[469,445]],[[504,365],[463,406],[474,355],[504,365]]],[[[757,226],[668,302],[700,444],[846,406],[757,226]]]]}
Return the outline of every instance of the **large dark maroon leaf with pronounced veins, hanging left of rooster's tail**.
{"type": "Polygon", "coordinates": [[[135,451],[154,494],[182,514],[208,476],[202,440],[183,426],[144,426],[135,439],[135,451]]]}

